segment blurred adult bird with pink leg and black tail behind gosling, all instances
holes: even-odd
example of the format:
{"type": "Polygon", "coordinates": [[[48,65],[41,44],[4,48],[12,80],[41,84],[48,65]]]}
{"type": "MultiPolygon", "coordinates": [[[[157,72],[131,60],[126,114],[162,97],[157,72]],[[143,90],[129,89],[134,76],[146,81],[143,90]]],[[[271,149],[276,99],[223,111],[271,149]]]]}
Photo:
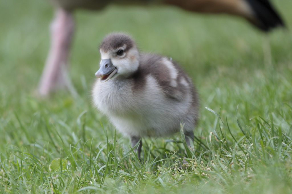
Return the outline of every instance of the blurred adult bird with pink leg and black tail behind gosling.
{"type": "Polygon", "coordinates": [[[268,0],[50,0],[56,7],[51,24],[51,48],[39,83],[39,94],[48,95],[58,87],[69,87],[66,74],[69,47],[74,33],[73,11],[101,10],[108,4],[173,5],[192,12],[228,13],[244,17],[263,31],[284,26],[268,0]]]}

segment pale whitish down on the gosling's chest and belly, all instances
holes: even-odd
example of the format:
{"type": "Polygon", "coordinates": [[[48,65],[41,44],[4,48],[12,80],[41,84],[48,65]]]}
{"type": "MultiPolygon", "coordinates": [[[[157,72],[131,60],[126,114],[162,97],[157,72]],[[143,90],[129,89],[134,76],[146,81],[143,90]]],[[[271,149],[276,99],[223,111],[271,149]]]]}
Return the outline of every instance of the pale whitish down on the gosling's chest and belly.
{"type": "Polygon", "coordinates": [[[188,117],[192,97],[169,98],[151,74],[143,88],[133,90],[134,79],[99,79],[93,87],[93,102],[126,136],[168,136],[179,131],[188,117]]]}

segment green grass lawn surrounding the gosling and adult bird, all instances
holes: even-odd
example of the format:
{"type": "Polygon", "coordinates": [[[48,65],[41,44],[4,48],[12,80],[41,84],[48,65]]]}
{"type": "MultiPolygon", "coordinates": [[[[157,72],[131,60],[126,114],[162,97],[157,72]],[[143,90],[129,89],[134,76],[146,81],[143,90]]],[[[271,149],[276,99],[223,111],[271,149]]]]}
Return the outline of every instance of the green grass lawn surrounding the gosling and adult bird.
{"type": "Polygon", "coordinates": [[[288,30],[267,35],[241,18],[173,7],[79,10],[70,57],[79,97],[39,99],[53,8],[0,1],[0,193],[292,193],[292,1],[273,3],[288,30]],[[192,77],[195,151],[185,154],[180,134],[146,138],[139,161],[93,107],[97,48],[112,31],[192,77]]]}

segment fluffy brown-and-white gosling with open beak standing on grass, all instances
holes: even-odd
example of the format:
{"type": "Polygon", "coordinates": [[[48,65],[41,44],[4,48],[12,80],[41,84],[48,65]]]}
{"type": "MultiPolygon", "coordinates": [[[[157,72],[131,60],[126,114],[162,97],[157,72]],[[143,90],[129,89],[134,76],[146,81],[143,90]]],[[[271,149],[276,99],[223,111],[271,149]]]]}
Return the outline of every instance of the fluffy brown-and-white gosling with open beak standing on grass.
{"type": "Polygon", "coordinates": [[[107,35],[100,45],[100,68],[92,90],[94,105],[119,132],[131,138],[140,158],[142,137],[180,131],[188,146],[198,119],[198,95],[191,79],[171,58],[139,53],[131,37],[107,35]]]}

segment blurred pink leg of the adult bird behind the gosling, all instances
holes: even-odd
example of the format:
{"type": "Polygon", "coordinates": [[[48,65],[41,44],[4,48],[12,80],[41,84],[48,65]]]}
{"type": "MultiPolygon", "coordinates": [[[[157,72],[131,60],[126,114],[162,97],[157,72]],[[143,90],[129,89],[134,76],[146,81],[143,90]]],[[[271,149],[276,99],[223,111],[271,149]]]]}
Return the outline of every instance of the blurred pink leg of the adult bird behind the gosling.
{"type": "Polygon", "coordinates": [[[39,82],[38,92],[48,95],[56,88],[70,87],[67,60],[74,32],[74,18],[70,11],[58,8],[51,23],[51,48],[39,82]]]}

